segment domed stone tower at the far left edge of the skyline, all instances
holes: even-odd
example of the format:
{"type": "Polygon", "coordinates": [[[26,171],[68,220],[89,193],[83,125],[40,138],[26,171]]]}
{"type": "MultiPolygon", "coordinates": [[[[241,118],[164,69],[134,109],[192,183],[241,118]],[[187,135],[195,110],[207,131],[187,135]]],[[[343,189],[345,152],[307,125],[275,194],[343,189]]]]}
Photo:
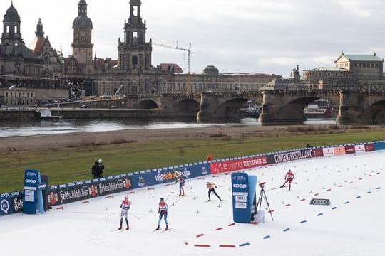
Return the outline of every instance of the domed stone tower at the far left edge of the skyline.
{"type": "Polygon", "coordinates": [[[11,2],[3,19],[3,33],[1,35],[1,52],[5,55],[20,55],[24,46],[20,31],[20,16],[11,2]]]}

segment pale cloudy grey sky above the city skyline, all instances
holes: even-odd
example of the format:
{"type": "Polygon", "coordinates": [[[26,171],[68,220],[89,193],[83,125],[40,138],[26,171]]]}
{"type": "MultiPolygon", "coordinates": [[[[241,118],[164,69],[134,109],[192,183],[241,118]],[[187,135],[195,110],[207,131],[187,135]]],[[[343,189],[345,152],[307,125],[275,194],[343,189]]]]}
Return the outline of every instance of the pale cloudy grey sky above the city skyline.
{"type": "MultiPolygon", "coordinates": [[[[220,73],[274,73],[333,66],[344,53],[385,58],[383,0],[141,0],[147,41],[188,48],[192,71],[215,65],[220,73]]],[[[26,45],[36,23],[52,45],[71,54],[72,22],[79,0],[14,0],[26,45]]],[[[94,53],[117,58],[118,38],[129,16],[129,0],[86,0],[93,21],[94,53]]],[[[1,15],[11,0],[0,1],[1,15]]],[[[187,71],[187,54],[153,46],[153,65],[177,63],[187,71]]]]}

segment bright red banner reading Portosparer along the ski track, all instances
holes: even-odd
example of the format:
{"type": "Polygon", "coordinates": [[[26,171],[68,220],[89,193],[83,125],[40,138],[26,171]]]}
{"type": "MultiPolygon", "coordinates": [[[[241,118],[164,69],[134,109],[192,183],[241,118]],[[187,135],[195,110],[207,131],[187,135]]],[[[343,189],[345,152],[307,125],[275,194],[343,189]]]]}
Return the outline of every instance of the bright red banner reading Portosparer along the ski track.
{"type": "Polygon", "coordinates": [[[219,174],[227,171],[239,171],[242,169],[255,168],[264,165],[267,165],[267,157],[257,156],[245,159],[234,159],[210,163],[210,171],[211,174],[219,174]]]}

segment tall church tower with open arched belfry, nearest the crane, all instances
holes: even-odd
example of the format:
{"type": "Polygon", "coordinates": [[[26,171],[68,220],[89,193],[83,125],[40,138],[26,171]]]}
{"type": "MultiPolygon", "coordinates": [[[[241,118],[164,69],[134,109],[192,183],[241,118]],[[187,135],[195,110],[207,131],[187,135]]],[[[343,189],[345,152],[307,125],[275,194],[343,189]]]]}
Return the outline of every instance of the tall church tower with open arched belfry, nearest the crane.
{"type": "Polygon", "coordinates": [[[124,40],[118,42],[118,68],[120,70],[150,70],[151,39],[145,42],[145,22],[140,16],[140,0],[130,0],[130,18],[124,22],[124,40]]]}

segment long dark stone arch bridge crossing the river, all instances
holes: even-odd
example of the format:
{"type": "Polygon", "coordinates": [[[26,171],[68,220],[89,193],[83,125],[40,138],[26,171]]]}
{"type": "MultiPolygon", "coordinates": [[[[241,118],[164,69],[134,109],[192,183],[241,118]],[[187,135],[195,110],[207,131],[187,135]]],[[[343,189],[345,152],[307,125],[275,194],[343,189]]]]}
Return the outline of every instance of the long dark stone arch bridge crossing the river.
{"type": "MultiPolygon", "coordinates": [[[[262,105],[262,124],[302,123],[303,110],[314,100],[337,107],[337,124],[385,124],[384,90],[265,90],[202,92],[200,94],[127,95],[123,99],[87,102],[88,107],[161,110],[169,117],[239,119],[240,109],[252,100],[262,105]],[[168,114],[167,114],[168,113],[168,114]]],[[[83,102],[84,103],[84,102],[83,102]]]]}

